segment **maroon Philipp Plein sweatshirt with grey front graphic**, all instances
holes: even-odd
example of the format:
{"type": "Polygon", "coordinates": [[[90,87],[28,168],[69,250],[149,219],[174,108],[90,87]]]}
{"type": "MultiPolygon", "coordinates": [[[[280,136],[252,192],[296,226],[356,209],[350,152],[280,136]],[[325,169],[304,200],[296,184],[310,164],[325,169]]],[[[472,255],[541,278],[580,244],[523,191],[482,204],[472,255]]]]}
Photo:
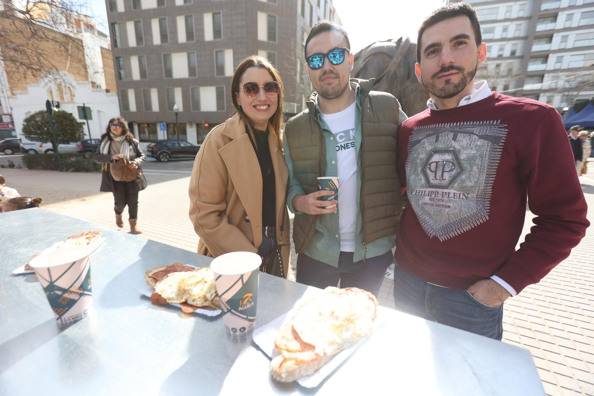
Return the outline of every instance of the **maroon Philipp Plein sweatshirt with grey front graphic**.
{"type": "Polygon", "coordinates": [[[426,282],[464,290],[497,275],[520,293],[590,225],[561,117],[536,100],[492,92],[426,109],[402,123],[397,157],[409,203],[395,259],[426,282]],[[527,197],[538,217],[516,250],[527,197]]]}

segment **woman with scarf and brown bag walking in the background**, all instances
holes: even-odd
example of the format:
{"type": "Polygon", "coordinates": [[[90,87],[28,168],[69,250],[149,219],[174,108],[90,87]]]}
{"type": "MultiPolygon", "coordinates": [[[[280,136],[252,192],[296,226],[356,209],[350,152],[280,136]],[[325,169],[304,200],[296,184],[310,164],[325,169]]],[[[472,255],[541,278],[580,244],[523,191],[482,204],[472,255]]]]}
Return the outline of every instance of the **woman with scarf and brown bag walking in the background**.
{"type": "Polygon", "coordinates": [[[102,164],[100,191],[113,193],[115,223],[124,227],[122,213],[128,205],[130,233],[140,234],[138,229],[138,191],[147,187],[146,178],[140,165],[146,156],[138,145],[138,140],[128,130],[122,117],[109,120],[105,133],[101,136],[99,149],[94,155],[95,162],[102,164]]]}

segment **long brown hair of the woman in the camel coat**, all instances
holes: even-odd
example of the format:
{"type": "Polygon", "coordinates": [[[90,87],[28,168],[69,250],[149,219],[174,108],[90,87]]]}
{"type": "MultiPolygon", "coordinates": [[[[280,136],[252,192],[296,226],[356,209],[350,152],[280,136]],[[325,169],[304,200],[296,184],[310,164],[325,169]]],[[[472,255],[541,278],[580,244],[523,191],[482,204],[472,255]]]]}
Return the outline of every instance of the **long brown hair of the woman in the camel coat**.
{"type": "MultiPolygon", "coordinates": [[[[239,95],[239,82],[241,81],[241,77],[244,76],[244,73],[250,67],[261,67],[268,72],[270,72],[274,81],[279,84],[279,95],[277,96],[278,107],[276,112],[270,117],[270,125],[272,125],[274,136],[276,137],[276,144],[279,147],[279,150],[283,150],[283,139],[280,134],[280,131],[283,127],[283,81],[280,79],[280,74],[276,70],[276,68],[268,61],[268,59],[263,58],[259,55],[249,55],[245,58],[233,74],[233,79],[231,80],[231,100],[233,102],[233,107],[235,107],[235,112],[239,114],[241,117],[241,121],[244,121],[244,125],[246,126],[247,133],[249,133],[252,138],[254,137],[254,122],[249,119],[247,115],[245,115],[243,109],[237,103],[237,95],[239,95]]],[[[254,139],[252,139],[254,140],[254,139]]]]}

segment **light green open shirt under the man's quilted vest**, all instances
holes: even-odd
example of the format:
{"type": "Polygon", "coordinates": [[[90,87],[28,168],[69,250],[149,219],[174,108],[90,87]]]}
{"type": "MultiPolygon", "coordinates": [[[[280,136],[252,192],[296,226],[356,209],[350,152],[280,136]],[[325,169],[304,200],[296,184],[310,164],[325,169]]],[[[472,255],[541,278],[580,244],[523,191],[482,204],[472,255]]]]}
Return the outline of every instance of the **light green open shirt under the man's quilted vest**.
{"type": "MultiPolygon", "coordinates": [[[[394,247],[394,240],[396,235],[388,235],[387,237],[379,238],[371,243],[363,244],[363,221],[361,216],[361,95],[359,84],[351,82],[351,85],[355,88],[355,100],[357,102],[355,110],[355,155],[357,158],[357,187],[356,187],[356,203],[357,203],[357,218],[355,226],[355,254],[353,261],[358,262],[365,258],[371,258],[380,256],[388,252],[394,247]]],[[[323,129],[324,141],[326,147],[334,147],[336,142],[333,142],[333,134],[328,128],[328,125],[320,116],[320,107],[317,103],[317,120],[323,129]]],[[[400,110],[399,114],[399,125],[406,120],[406,114],[400,110]]],[[[293,170],[293,162],[289,155],[289,146],[287,140],[283,134],[283,146],[285,148],[285,161],[287,168],[289,168],[289,181],[287,186],[287,205],[289,210],[295,214],[299,214],[299,210],[293,208],[292,202],[293,197],[296,194],[305,195],[305,191],[301,187],[298,178],[293,170]]],[[[326,175],[337,175],[338,174],[338,161],[336,156],[336,150],[326,150],[326,175]]],[[[337,206],[337,210],[340,210],[340,201],[337,206]]],[[[326,215],[318,215],[318,221],[315,225],[315,232],[308,246],[305,247],[304,253],[312,259],[327,263],[331,266],[338,267],[338,259],[340,256],[340,228],[339,228],[339,215],[336,213],[328,213],[326,215]]]]}

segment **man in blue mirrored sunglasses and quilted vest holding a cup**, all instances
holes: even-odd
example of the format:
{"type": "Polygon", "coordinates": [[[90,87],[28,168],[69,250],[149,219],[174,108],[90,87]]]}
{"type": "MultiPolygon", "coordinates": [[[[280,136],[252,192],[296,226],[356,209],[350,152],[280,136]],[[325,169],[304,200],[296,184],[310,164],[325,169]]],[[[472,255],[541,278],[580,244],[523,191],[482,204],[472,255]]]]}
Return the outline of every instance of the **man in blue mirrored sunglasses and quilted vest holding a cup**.
{"type": "Polygon", "coordinates": [[[406,115],[373,81],[350,79],[353,55],[343,27],[315,24],[305,42],[315,91],[291,118],[283,143],[289,168],[287,204],[295,213],[297,281],[326,288],[380,290],[393,261],[402,208],[396,132],[406,115]],[[337,200],[320,197],[318,177],[339,177],[337,200]]]}

